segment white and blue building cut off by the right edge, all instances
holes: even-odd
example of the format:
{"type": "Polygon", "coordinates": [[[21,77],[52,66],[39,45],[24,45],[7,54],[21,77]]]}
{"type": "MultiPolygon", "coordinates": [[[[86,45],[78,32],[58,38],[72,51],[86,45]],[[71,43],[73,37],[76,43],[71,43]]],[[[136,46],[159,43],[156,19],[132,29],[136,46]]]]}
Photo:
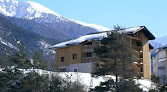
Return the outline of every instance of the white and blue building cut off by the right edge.
{"type": "Polygon", "coordinates": [[[160,77],[162,85],[167,84],[167,46],[157,48],[152,54],[153,73],[160,77]]]}

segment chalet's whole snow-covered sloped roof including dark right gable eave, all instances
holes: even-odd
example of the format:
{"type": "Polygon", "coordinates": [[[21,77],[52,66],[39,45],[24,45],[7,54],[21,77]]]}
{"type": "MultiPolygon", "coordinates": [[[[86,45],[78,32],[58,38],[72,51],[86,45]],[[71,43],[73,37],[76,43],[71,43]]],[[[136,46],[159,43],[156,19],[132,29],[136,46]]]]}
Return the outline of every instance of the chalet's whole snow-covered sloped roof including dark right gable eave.
{"type": "MultiPolygon", "coordinates": [[[[144,26],[125,28],[125,29],[121,29],[119,32],[125,33],[125,34],[134,34],[138,31],[143,31],[143,33],[149,38],[149,40],[155,39],[155,37],[144,26]]],[[[69,41],[65,41],[65,42],[56,44],[56,45],[52,46],[51,48],[63,48],[63,47],[67,47],[69,45],[76,45],[76,44],[82,43],[84,41],[90,41],[93,39],[101,40],[102,38],[107,37],[107,32],[112,32],[112,30],[81,36],[81,37],[74,39],[74,40],[69,40],[69,41]]]]}

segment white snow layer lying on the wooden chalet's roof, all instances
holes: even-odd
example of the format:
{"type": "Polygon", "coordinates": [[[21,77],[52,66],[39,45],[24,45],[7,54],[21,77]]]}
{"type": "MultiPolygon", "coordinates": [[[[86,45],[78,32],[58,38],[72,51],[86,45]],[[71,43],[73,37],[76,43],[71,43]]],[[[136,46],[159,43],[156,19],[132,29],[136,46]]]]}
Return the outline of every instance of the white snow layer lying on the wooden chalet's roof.
{"type": "MultiPolygon", "coordinates": [[[[136,31],[138,31],[140,27],[133,27],[133,28],[125,28],[120,30],[120,33],[135,33],[136,31]]],[[[89,34],[89,35],[85,35],[85,36],[81,36],[77,39],[74,40],[70,40],[70,41],[66,41],[66,42],[62,42],[59,44],[56,44],[54,46],[52,46],[51,48],[62,48],[62,47],[67,47],[68,45],[72,45],[72,44],[79,44],[81,42],[84,42],[86,40],[90,41],[93,39],[102,39],[104,37],[107,37],[107,32],[101,32],[101,33],[97,33],[97,34],[89,34]]]]}

